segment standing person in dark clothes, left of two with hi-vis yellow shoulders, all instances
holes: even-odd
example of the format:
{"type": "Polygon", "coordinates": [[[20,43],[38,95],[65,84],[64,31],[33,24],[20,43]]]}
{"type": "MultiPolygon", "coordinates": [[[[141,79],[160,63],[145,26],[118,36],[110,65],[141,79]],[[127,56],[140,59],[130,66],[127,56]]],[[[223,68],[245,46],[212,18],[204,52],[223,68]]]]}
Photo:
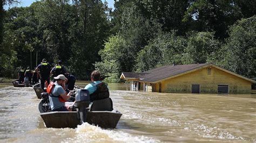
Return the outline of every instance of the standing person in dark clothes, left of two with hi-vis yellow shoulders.
{"type": "Polygon", "coordinates": [[[42,62],[37,66],[36,72],[41,79],[41,88],[44,90],[45,81],[50,84],[50,71],[51,65],[49,62],[46,62],[46,59],[43,59],[42,62]]]}

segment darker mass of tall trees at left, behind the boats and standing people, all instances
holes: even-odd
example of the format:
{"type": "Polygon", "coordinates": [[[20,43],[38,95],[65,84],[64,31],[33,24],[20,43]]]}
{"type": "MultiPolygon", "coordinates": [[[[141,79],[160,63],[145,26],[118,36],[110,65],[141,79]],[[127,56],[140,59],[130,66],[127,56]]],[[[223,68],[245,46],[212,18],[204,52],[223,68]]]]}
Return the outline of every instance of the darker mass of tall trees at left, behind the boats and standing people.
{"type": "Polygon", "coordinates": [[[108,10],[96,0],[45,0],[9,9],[5,16],[5,33],[9,35],[4,44],[16,52],[14,67],[29,66],[30,52],[32,65],[37,65],[38,52],[38,61],[62,60],[71,73],[88,79],[93,63],[100,61],[98,51],[109,36],[108,10]]]}

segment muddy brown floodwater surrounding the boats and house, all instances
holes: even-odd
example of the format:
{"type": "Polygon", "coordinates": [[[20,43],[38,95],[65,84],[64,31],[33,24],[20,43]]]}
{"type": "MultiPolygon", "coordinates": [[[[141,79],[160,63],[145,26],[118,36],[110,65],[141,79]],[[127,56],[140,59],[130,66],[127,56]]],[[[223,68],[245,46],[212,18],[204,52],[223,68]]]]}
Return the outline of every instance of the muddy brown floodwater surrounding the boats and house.
{"type": "Polygon", "coordinates": [[[32,88],[1,84],[0,142],[256,142],[256,95],[136,92],[121,83],[109,89],[123,113],[117,128],[46,128],[32,88]]]}

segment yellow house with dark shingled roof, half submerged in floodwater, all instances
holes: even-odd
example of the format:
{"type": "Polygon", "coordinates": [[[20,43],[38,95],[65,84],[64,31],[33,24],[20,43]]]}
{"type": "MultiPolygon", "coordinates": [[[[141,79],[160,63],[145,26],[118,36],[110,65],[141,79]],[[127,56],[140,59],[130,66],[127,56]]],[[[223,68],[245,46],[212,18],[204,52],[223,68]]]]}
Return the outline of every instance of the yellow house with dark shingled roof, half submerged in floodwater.
{"type": "Polygon", "coordinates": [[[179,93],[251,94],[256,81],[211,63],[163,66],[143,73],[123,72],[131,90],[179,93]]]}

